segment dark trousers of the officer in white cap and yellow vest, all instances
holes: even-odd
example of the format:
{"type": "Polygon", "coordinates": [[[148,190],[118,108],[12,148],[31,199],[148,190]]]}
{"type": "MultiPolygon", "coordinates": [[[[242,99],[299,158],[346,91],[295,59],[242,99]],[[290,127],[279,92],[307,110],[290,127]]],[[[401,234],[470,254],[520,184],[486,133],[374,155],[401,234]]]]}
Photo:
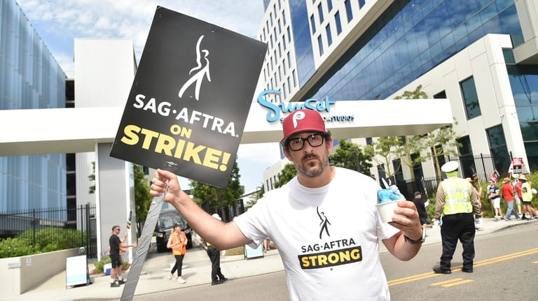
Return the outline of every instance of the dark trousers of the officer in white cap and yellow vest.
{"type": "Polygon", "coordinates": [[[474,259],[474,215],[472,213],[457,213],[443,216],[441,240],[443,254],[441,255],[441,270],[450,270],[450,261],[456,249],[457,240],[463,246],[463,267],[473,268],[474,259]]]}

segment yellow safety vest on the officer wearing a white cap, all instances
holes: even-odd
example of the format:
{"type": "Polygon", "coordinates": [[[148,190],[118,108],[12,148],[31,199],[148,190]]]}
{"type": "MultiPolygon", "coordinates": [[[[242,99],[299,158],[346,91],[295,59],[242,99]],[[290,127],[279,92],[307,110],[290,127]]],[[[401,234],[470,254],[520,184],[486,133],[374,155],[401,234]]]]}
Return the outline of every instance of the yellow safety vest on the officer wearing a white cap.
{"type": "Polygon", "coordinates": [[[473,204],[471,203],[471,184],[459,177],[449,177],[441,182],[445,193],[445,204],[443,214],[471,213],[473,204]]]}

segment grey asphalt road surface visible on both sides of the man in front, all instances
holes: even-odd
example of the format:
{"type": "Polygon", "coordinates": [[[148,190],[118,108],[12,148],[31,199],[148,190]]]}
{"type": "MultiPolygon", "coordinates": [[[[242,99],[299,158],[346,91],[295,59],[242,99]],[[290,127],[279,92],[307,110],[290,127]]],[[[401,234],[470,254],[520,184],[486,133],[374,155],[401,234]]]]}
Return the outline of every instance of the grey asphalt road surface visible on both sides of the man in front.
{"type": "MultiPolygon", "coordinates": [[[[538,226],[514,228],[476,237],[474,273],[463,273],[461,246],[455,252],[452,274],[433,274],[441,244],[422,247],[418,256],[402,262],[390,254],[381,260],[393,301],[399,300],[536,300],[538,296],[538,226]]],[[[140,295],[144,300],[287,301],[284,272],[227,281],[217,286],[194,286],[140,295]]]]}

